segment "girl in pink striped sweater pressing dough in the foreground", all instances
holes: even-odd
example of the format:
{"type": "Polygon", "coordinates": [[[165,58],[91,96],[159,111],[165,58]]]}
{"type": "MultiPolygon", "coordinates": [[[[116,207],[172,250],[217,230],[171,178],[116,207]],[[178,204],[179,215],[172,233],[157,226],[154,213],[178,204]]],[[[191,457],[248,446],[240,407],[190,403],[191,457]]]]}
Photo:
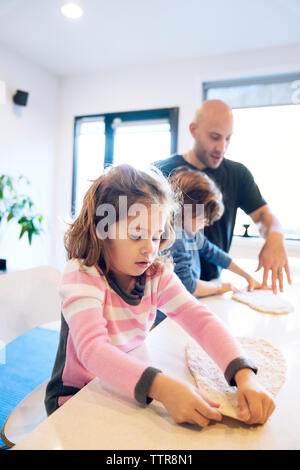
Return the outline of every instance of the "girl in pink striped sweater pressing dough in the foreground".
{"type": "Polygon", "coordinates": [[[159,251],[172,243],[174,193],[158,172],[109,169],[66,233],[62,324],[45,404],[51,414],[95,376],[137,403],[160,401],[176,423],[221,420],[194,387],[126,354],[145,340],[157,308],[180,324],[238,387],[240,416],[265,423],[274,402],[225,325],[201,305],[159,251]],[[139,214],[138,217],[136,214],[139,214]]]}

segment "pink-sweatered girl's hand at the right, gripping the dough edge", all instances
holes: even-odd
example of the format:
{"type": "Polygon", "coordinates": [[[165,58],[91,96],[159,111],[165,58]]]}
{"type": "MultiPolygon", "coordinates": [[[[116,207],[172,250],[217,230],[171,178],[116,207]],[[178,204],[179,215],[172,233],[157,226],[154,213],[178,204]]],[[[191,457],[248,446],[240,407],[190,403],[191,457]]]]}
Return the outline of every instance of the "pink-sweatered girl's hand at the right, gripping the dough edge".
{"type": "Polygon", "coordinates": [[[238,387],[239,417],[247,424],[264,424],[275,409],[273,398],[251,369],[239,370],[234,378],[238,387]]]}

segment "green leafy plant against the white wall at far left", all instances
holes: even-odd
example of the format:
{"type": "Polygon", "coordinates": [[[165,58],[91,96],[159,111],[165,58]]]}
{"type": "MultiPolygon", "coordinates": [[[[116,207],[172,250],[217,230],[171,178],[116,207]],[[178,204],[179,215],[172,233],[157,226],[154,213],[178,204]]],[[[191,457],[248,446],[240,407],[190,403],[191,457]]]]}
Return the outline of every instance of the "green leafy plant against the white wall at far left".
{"type": "MultiPolygon", "coordinates": [[[[43,216],[36,212],[33,201],[23,192],[24,186],[29,184],[23,175],[18,178],[0,176],[0,233],[4,221],[15,219],[20,225],[19,239],[27,234],[31,245],[33,236],[42,232],[43,216]]],[[[0,270],[6,270],[5,259],[0,259],[0,270]]]]}

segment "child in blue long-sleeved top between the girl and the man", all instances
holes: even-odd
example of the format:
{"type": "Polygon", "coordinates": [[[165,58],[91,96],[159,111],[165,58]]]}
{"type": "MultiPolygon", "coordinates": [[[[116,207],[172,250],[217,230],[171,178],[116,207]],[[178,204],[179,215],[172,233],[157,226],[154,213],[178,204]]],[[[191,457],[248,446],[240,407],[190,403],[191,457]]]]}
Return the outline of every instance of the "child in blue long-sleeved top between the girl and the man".
{"type": "Polygon", "coordinates": [[[171,177],[171,183],[174,190],[182,191],[183,197],[182,224],[178,227],[179,233],[170,251],[175,273],[187,290],[199,297],[238,290],[231,283],[200,280],[201,257],[245,278],[248,290],[259,289],[261,285],[250,274],[202,233],[204,226],[212,225],[224,212],[222,195],[215,183],[206,174],[187,167],[178,168],[171,177]],[[202,210],[197,213],[197,208],[202,210]]]}

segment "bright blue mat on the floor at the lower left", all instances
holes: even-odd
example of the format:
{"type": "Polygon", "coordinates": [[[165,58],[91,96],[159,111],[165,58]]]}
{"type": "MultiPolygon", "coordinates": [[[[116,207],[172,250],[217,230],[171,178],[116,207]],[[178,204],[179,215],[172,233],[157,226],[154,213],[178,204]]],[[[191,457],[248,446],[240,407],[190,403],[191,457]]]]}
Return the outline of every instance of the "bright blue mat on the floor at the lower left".
{"type": "Polygon", "coordinates": [[[0,429],[15,406],[51,376],[58,340],[58,331],[34,328],[6,346],[0,357],[0,429]]]}

